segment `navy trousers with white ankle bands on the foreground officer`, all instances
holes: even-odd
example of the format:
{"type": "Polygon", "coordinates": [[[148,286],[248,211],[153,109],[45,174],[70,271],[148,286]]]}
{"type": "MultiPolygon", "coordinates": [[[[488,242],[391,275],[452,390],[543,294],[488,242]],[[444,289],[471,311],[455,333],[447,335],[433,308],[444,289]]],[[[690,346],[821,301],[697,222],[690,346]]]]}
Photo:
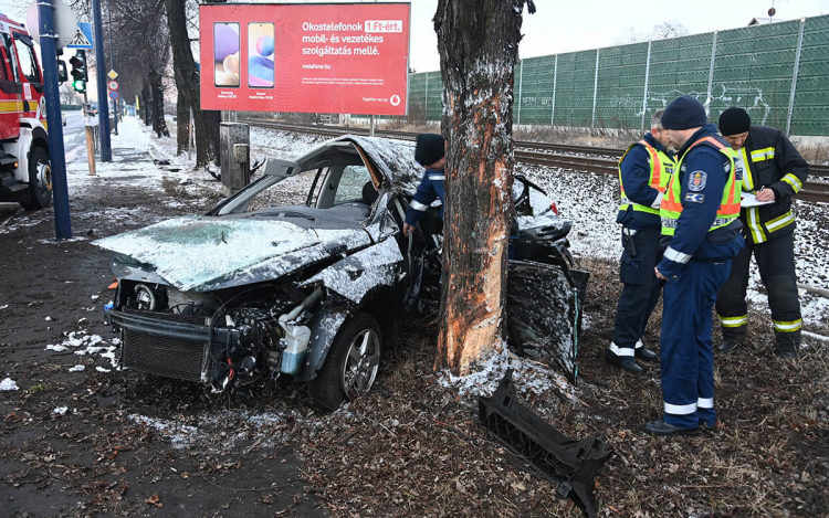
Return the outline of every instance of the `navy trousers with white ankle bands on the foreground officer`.
{"type": "Polygon", "coordinates": [[[662,419],[674,426],[711,426],[714,411],[712,309],[717,289],[731,272],[732,260],[691,261],[676,279],[665,283],[660,362],[662,419]]]}

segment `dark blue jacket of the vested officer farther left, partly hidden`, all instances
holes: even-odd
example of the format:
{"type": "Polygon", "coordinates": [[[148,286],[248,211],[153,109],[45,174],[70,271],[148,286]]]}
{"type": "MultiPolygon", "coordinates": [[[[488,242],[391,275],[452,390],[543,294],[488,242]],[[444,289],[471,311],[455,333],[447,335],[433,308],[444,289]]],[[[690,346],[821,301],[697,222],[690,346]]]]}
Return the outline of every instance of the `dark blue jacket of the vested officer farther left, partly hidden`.
{"type": "MultiPolygon", "coordinates": [[[[673,157],[673,152],[665,150],[664,146],[653,138],[653,135],[647,134],[643,139],[653,146],[657,151],[662,151],[669,157],[673,157]]],[[[644,146],[633,146],[625,156],[619,167],[622,184],[625,186],[625,195],[628,197],[628,200],[640,205],[651,207],[659,191],[650,186],[650,154],[644,149],[644,146]]],[[[657,214],[634,211],[632,207],[619,211],[616,222],[633,230],[660,229],[662,225],[657,214]]]]}

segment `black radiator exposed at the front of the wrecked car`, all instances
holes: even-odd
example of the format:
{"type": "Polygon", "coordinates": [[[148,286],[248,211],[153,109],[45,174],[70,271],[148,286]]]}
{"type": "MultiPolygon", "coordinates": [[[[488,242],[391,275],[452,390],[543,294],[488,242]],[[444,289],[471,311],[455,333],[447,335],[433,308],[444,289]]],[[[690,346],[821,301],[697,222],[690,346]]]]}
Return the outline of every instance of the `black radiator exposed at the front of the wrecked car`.
{"type": "MultiPolygon", "coordinates": [[[[181,324],[206,325],[206,317],[124,308],[127,315],[150,317],[181,324]]],[[[123,329],[122,364],[139,372],[188,381],[203,381],[207,342],[155,336],[135,329],[123,329]]]]}

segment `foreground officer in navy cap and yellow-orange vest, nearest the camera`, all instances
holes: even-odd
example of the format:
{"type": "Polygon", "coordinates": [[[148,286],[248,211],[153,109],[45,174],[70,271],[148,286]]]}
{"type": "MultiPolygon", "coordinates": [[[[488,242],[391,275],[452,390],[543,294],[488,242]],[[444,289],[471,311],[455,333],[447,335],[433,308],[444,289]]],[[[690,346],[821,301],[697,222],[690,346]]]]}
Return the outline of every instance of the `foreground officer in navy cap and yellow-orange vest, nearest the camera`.
{"type": "Polygon", "coordinates": [[[660,339],[664,411],[644,427],[654,435],[693,434],[716,421],[711,311],[744,244],[737,218],[742,183],[734,151],[696,98],[673,99],[662,126],[679,150],[660,205],[668,247],[655,267],[667,281],[660,339]]]}

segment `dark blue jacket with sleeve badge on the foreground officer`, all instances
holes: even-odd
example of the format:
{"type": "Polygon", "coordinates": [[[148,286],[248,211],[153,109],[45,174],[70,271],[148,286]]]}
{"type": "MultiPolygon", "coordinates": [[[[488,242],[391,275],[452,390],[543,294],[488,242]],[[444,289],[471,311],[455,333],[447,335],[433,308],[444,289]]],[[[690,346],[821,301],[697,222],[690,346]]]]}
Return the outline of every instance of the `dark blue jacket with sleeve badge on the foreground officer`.
{"type": "MultiPolygon", "coordinates": [[[[709,232],[717,218],[716,211],[731,173],[728,158],[714,147],[703,144],[688,151],[693,142],[709,136],[726,144],[717,135],[716,126],[709,124],[688,139],[679,152],[683,157],[682,167],[674,171],[673,181],[682,182],[682,214],[676,221],[674,235],[663,236],[663,244],[668,244],[668,249],[657,265],[669,279],[676,278],[689,261],[726,261],[735,257],[745,244],[739,235],[743,224],[737,219],[728,226],[709,232]],[[694,178],[697,171],[702,175],[694,178]],[[689,187],[690,183],[693,186],[689,187]]],[[[735,181],[742,181],[742,176],[735,181]]]]}

